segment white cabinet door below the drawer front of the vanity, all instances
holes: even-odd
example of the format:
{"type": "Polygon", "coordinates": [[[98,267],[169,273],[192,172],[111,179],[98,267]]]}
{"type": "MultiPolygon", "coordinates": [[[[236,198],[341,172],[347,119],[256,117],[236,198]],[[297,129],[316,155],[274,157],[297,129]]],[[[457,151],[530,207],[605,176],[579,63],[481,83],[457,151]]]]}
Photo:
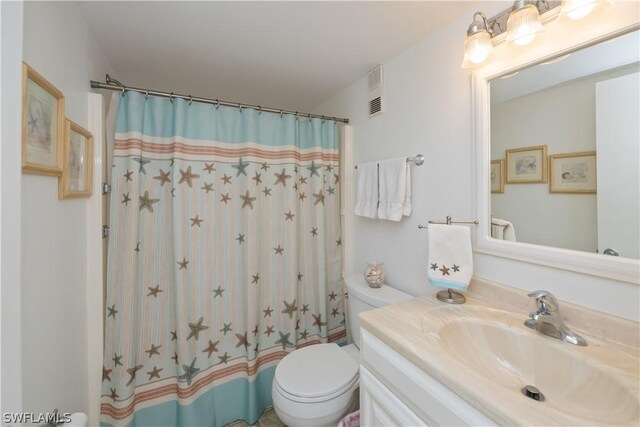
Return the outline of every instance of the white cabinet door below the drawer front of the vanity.
{"type": "Polygon", "coordinates": [[[427,426],[420,417],[378,381],[367,368],[360,366],[360,425],[427,426]]]}

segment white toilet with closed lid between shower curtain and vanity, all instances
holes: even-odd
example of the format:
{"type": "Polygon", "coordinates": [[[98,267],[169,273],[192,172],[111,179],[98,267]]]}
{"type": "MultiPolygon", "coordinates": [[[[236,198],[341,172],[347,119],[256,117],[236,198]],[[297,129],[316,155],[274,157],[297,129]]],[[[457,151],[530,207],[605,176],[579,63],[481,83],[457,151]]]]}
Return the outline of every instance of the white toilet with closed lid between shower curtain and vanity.
{"type": "Polygon", "coordinates": [[[388,285],[370,288],[362,275],[345,279],[347,327],[353,344],[318,344],[295,350],[276,367],[273,407],[289,427],[336,426],[358,405],[360,327],[358,314],[413,298],[388,285]]]}

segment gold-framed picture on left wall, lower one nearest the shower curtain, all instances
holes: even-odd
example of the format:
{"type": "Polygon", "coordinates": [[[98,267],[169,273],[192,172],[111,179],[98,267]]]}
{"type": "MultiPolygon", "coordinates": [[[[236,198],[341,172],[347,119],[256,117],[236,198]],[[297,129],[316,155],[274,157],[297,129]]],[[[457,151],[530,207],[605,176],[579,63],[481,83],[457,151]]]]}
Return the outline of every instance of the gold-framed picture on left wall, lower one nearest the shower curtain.
{"type": "Polygon", "coordinates": [[[64,167],[62,176],[58,178],[58,197],[91,196],[93,136],[71,120],[66,120],[63,153],[64,167]]]}

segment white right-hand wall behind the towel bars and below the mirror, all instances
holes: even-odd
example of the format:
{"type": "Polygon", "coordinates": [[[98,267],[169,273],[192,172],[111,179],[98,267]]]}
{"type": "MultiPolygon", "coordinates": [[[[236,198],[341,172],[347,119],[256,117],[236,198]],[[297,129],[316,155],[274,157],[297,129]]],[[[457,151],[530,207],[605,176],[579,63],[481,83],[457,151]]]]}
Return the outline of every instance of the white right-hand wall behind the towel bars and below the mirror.
{"type": "MultiPolygon", "coordinates": [[[[477,9],[492,16],[506,7],[479,3],[477,9]]],[[[414,209],[409,218],[399,223],[354,220],[352,271],[362,271],[369,259],[383,260],[387,282],[413,295],[435,290],[426,279],[427,232],[417,225],[446,215],[469,219],[473,212],[471,79],[460,68],[471,18],[461,16],[383,64],[382,115],[367,118],[364,77],[316,108],[351,120],[355,163],[426,156],[424,166],[412,168],[414,209]]],[[[547,289],[560,299],[638,320],[637,285],[480,254],[474,262],[479,277],[525,290],[547,289]]]]}

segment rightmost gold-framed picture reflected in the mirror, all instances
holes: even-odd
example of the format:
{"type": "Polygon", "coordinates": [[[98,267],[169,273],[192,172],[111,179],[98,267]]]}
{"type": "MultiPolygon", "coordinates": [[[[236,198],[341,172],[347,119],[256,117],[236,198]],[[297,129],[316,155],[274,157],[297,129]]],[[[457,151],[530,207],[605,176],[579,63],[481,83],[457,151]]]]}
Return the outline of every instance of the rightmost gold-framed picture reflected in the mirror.
{"type": "Polygon", "coordinates": [[[549,156],[551,193],[594,194],[596,192],[596,152],[549,156]]]}

